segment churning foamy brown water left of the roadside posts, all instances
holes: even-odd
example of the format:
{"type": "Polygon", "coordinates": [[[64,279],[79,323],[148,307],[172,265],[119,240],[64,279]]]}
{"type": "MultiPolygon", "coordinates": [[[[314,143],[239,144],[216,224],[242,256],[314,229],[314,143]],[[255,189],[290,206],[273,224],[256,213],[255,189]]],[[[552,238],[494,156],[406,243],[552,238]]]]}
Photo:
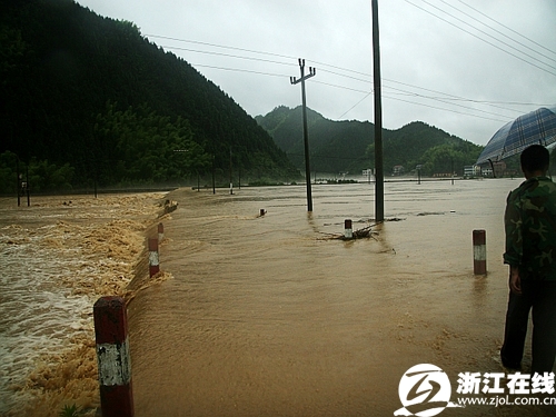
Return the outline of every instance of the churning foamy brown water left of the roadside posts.
{"type": "Polygon", "coordinates": [[[127,286],[163,192],[0,200],[0,414],[99,406],[92,306],[127,286]]]}

